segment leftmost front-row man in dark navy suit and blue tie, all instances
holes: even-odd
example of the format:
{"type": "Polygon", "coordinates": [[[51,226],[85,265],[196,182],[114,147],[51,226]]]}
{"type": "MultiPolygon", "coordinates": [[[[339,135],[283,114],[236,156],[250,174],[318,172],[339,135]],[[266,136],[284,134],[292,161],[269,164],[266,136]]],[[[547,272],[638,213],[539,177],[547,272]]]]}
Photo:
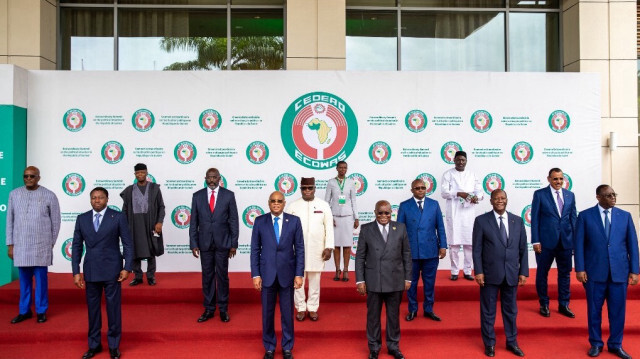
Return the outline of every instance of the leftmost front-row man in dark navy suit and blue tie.
{"type": "Polygon", "coordinates": [[[93,209],[78,216],[71,244],[73,282],[80,289],[86,287],[89,309],[89,350],[82,358],[92,358],[102,351],[100,303],[104,290],[109,322],[107,332],[109,353],[112,359],[117,359],[120,358],[119,346],[122,333],[121,283],[131,272],[133,242],[125,215],[107,208],[109,192],[102,187],[96,187],[91,191],[90,197],[93,209]],[[120,242],[122,242],[122,253],[120,253],[120,242]],[[83,245],[86,248],[82,269],[84,275],[80,273],[83,245]]]}

